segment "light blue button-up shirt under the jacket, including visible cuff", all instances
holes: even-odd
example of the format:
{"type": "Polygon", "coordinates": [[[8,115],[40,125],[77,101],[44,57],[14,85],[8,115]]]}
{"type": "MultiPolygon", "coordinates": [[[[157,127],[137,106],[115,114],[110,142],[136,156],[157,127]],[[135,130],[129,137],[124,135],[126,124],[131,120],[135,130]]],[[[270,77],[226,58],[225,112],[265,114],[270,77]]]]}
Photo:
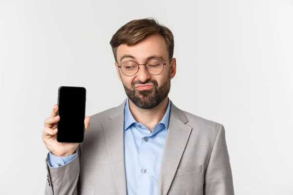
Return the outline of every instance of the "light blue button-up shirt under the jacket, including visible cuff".
{"type": "MultiPolygon", "coordinates": [[[[159,174],[170,117],[170,100],[163,119],[150,132],[132,116],[128,98],[124,110],[124,155],[127,195],[157,195],[159,174]]],[[[49,152],[52,167],[70,162],[71,156],[54,156],[49,152]]]]}

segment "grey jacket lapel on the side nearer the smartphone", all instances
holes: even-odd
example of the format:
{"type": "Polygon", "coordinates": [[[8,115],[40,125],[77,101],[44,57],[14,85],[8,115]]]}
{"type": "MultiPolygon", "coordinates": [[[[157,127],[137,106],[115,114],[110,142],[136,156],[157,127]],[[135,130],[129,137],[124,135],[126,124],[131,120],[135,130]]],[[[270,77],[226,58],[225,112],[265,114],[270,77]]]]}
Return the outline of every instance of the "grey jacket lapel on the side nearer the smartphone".
{"type": "Polygon", "coordinates": [[[113,109],[108,116],[110,120],[103,122],[107,151],[111,169],[119,195],[126,195],[126,175],[124,161],[124,107],[126,101],[113,109]]]}

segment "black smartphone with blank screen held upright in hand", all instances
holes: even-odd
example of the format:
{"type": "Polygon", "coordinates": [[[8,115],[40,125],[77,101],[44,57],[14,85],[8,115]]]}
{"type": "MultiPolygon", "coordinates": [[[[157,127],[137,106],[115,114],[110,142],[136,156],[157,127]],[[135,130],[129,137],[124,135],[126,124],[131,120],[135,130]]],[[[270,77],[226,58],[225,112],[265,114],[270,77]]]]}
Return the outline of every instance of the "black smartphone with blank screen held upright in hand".
{"type": "Polygon", "coordinates": [[[57,141],[81,143],[84,140],[86,89],[61,86],[58,89],[57,141]]]}

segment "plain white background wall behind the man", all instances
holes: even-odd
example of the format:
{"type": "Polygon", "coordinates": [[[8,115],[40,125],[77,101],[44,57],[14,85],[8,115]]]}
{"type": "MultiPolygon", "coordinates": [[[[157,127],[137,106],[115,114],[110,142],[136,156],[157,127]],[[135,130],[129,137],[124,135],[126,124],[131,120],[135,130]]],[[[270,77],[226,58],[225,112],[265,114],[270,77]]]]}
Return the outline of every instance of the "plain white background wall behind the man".
{"type": "Polygon", "coordinates": [[[0,195],[44,193],[59,86],[87,116],[126,98],[109,41],[146,17],[174,34],[169,98],[225,126],[235,194],[293,195],[292,0],[0,0],[0,195]]]}

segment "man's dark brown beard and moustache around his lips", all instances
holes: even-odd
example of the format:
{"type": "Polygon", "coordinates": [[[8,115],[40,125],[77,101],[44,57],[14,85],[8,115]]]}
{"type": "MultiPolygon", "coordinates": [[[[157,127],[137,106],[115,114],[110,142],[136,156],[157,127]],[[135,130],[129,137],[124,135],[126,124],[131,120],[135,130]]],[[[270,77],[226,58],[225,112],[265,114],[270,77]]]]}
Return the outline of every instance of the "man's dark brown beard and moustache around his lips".
{"type": "Polygon", "coordinates": [[[167,98],[171,87],[170,73],[161,86],[158,86],[158,82],[156,80],[151,79],[146,80],[146,82],[141,82],[139,80],[134,81],[132,82],[130,88],[127,88],[124,83],[123,86],[127,97],[134,103],[134,105],[142,109],[151,109],[159,105],[165,98],[167,98]],[[135,89],[136,84],[146,83],[152,83],[153,88],[148,90],[135,89]]]}

